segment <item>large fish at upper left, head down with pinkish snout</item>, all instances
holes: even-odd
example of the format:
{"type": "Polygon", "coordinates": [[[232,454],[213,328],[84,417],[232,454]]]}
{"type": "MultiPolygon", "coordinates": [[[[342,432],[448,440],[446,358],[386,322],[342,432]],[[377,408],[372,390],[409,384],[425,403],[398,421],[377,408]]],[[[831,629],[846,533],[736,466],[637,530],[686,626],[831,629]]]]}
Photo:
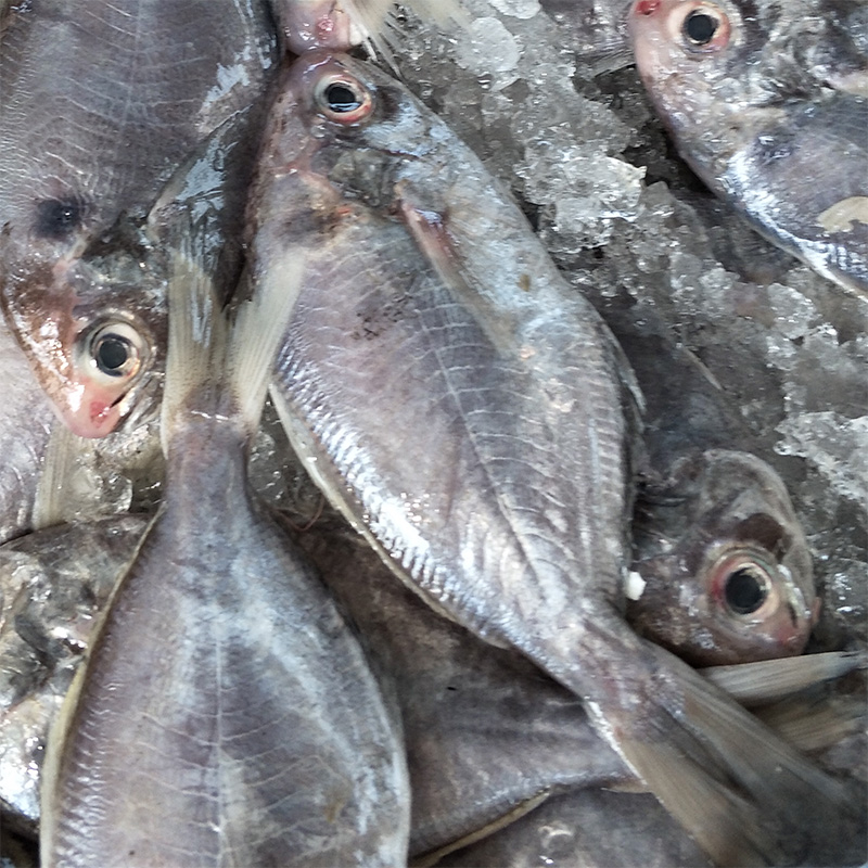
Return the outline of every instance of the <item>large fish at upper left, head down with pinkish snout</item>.
{"type": "Polygon", "coordinates": [[[213,246],[228,250],[216,279],[234,285],[240,256],[227,239],[275,43],[261,0],[46,0],[8,10],[0,305],[77,435],[104,436],[156,412],[161,378],[150,374],[164,361],[164,251],[178,243],[166,190],[182,187],[196,152],[220,137],[209,170],[227,177],[208,189],[220,188],[210,199],[225,207],[210,222],[224,231],[213,246]]]}

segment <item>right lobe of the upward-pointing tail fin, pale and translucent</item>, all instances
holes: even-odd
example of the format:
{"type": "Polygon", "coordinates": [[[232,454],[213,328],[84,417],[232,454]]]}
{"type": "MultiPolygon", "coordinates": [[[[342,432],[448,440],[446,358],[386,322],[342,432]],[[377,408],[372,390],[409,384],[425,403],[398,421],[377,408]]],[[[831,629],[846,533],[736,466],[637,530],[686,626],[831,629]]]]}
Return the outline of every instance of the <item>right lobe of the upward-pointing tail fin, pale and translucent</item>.
{"type": "Polygon", "coordinates": [[[302,291],[304,268],[304,251],[288,247],[235,317],[229,352],[230,382],[252,433],[259,426],[268,381],[302,291]]]}

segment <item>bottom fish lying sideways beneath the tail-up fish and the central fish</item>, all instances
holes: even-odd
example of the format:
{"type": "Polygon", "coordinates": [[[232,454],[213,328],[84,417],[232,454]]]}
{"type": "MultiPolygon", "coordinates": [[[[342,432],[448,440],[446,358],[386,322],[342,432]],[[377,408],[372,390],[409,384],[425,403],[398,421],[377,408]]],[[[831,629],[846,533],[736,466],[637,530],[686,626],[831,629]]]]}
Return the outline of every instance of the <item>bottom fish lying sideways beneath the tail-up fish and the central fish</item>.
{"type": "MultiPolygon", "coordinates": [[[[5,828],[36,837],[49,726],[148,523],[141,514],[78,521],[0,548],[5,828]]],[[[411,856],[431,861],[559,792],[634,786],[573,693],[516,652],[482,642],[434,613],[343,521],[321,518],[296,539],[360,629],[374,671],[400,707],[412,791],[411,856]]],[[[706,674],[739,701],[768,704],[857,665],[853,655],[835,654],[771,663],[788,668],[765,663],[755,674],[755,665],[706,674]]],[[[831,726],[838,740],[852,720],[835,714],[831,726]]],[[[814,746],[818,738],[829,743],[828,731],[814,726],[814,746]]]]}

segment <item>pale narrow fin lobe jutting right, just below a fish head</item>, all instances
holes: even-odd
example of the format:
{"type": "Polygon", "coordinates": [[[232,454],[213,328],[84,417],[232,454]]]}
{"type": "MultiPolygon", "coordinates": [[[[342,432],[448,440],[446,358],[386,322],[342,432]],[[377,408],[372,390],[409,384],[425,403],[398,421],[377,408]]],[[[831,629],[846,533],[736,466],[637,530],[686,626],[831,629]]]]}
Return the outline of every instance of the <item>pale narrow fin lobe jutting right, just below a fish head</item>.
{"type": "Polygon", "coordinates": [[[710,666],[701,674],[742,705],[762,705],[868,666],[861,652],[830,651],[797,658],[710,666]]]}

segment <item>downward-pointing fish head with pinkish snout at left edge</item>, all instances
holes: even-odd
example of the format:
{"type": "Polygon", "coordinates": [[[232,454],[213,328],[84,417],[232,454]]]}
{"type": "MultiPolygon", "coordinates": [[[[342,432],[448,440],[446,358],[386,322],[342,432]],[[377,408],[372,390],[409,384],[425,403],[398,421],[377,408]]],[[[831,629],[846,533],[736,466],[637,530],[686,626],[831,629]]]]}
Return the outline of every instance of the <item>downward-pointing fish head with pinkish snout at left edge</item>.
{"type": "Polygon", "coordinates": [[[155,410],[166,310],[158,252],[139,224],[125,214],[95,233],[80,200],[42,199],[29,220],[0,230],[7,322],[78,436],[105,436],[155,410]]]}

